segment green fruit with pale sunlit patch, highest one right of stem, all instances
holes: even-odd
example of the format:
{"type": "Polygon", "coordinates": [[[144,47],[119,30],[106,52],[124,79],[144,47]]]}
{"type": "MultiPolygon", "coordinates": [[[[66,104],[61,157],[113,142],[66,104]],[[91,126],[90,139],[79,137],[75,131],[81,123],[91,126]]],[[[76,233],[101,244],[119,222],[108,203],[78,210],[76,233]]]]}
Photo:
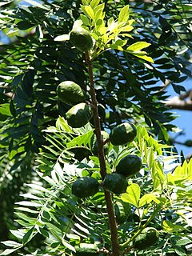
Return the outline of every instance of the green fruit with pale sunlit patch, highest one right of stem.
{"type": "Polygon", "coordinates": [[[123,122],[122,124],[114,127],[110,132],[110,142],[114,146],[124,145],[133,142],[137,135],[137,130],[134,124],[130,122],[123,122]]]}

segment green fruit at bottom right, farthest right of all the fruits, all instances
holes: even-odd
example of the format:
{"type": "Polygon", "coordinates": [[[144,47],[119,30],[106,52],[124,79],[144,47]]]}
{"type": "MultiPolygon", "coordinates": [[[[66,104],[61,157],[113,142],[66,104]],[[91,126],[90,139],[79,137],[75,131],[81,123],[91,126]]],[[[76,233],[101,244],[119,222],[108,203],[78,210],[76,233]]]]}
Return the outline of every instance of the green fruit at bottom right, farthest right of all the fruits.
{"type": "Polygon", "coordinates": [[[134,239],[133,245],[135,249],[144,250],[150,246],[154,246],[159,239],[158,230],[154,227],[146,227],[142,233],[134,239]]]}

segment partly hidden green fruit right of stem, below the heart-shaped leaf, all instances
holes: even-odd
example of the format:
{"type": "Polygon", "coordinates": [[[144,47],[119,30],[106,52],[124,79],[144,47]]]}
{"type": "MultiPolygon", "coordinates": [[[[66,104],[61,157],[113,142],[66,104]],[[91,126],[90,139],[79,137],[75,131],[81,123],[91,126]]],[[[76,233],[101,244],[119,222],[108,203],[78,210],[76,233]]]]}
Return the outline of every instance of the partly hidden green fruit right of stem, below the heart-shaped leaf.
{"type": "Polygon", "coordinates": [[[115,202],[114,213],[118,224],[126,222],[130,214],[130,204],[128,202],[115,202]]]}

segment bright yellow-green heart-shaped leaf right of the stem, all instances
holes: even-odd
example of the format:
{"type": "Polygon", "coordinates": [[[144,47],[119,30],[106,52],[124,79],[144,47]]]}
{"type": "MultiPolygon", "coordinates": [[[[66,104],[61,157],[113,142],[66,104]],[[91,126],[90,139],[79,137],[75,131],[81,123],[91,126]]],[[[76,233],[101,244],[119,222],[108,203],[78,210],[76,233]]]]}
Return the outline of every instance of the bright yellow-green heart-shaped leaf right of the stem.
{"type": "Polygon", "coordinates": [[[141,189],[138,184],[131,184],[126,189],[126,193],[122,194],[122,201],[123,202],[130,202],[132,205],[138,208],[138,200],[141,195],[141,189]]]}

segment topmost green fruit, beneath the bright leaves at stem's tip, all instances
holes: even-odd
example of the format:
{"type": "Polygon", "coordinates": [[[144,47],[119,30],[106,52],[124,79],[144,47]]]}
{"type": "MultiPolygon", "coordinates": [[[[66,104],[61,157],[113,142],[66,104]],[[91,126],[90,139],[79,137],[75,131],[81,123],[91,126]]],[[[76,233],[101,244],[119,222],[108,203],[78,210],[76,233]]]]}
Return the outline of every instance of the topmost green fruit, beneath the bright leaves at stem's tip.
{"type": "Polygon", "coordinates": [[[82,52],[90,50],[93,46],[90,32],[82,26],[76,27],[70,32],[70,42],[82,52]]]}

